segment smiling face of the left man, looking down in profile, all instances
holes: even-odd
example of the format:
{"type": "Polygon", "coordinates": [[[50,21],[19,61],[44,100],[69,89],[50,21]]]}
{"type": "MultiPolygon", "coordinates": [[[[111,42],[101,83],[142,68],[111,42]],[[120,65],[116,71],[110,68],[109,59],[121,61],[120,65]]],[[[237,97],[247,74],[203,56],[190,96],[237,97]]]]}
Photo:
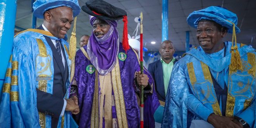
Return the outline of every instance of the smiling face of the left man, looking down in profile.
{"type": "Polygon", "coordinates": [[[73,10],[62,6],[50,9],[44,14],[45,27],[57,38],[64,38],[73,22],[73,10]]]}

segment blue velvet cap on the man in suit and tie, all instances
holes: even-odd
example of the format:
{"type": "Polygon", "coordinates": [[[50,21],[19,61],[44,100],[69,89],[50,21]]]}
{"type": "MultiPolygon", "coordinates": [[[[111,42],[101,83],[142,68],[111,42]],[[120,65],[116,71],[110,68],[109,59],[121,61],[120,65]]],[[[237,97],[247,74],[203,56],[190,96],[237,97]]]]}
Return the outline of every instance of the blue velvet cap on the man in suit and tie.
{"type": "Polygon", "coordinates": [[[71,7],[74,17],[81,11],[78,0],[36,0],[36,2],[33,3],[33,14],[37,18],[43,19],[43,14],[47,10],[61,6],[71,7]]]}

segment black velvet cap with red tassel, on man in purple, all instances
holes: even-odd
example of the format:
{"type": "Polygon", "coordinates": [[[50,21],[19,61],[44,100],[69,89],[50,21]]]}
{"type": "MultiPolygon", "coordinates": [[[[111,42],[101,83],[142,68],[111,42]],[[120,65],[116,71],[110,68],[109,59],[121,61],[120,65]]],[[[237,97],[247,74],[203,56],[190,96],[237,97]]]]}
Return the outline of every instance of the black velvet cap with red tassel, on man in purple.
{"type": "Polygon", "coordinates": [[[91,16],[95,16],[103,20],[119,20],[123,19],[124,29],[123,29],[123,49],[125,51],[130,49],[128,43],[128,29],[127,29],[127,13],[125,10],[118,7],[114,7],[110,3],[103,0],[88,0],[86,5],[82,6],[82,10],[91,16]]]}

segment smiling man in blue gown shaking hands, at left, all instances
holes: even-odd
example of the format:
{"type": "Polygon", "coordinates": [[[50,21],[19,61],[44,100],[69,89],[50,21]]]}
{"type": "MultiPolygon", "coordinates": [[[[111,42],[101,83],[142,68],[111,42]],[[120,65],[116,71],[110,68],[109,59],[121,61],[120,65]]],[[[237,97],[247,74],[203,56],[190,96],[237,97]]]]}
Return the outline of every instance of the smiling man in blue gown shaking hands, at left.
{"type": "Polygon", "coordinates": [[[69,128],[70,112],[80,110],[77,97],[68,97],[71,60],[64,37],[81,9],[78,0],[36,0],[33,9],[43,24],[14,38],[0,127],[69,128]]]}

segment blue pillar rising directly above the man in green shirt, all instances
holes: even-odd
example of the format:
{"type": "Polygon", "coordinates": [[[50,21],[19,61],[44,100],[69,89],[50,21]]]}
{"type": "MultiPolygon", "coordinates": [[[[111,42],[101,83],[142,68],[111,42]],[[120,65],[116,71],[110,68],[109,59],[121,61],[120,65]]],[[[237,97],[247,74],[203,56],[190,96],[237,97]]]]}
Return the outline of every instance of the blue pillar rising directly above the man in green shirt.
{"type": "Polygon", "coordinates": [[[162,42],[168,40],[168,0],[162,1],[162,42]]]}

